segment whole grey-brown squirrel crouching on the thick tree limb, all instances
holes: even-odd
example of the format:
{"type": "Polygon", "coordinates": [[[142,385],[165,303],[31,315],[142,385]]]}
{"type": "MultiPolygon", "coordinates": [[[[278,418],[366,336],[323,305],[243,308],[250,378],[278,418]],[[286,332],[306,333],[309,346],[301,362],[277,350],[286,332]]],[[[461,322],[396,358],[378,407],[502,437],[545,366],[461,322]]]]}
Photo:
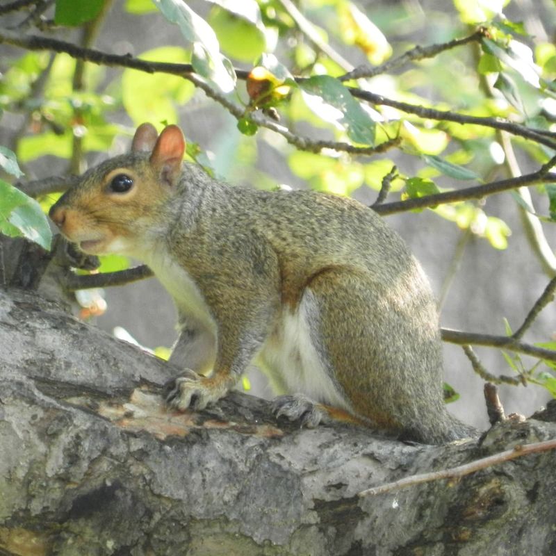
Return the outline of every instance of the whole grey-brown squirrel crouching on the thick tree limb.
{"type": "Polygon", "coordinates": [[[180,411],[224,396],[255,361],[277,416],[363,423],[421,443],[473,435],[443,403],[427,278],[372,209],[309,190],[231,187],[183,161],[179,126],[141,124],[131,153],[85,172],[49,212],[87,254],[146,263],[172,296],[180,411]],[[289,395],[288,395],[289,393],[289,395]]]}

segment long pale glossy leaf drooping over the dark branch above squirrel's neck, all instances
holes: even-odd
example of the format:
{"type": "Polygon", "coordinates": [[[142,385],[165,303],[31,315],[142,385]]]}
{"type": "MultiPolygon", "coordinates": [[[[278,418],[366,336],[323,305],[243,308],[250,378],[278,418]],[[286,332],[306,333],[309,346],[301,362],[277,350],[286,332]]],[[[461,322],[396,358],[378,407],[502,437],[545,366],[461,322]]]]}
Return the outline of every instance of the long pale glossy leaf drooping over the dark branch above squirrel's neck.
{"type": "Polygon", "coordinates": [[[181,0],[153,1],[162,15],[177,24],[183,37],[193,43],[195,71],[224,93],[234,90],[236,73],[229,60],[220,54],[220,44],[211,26],[181,0]]]}

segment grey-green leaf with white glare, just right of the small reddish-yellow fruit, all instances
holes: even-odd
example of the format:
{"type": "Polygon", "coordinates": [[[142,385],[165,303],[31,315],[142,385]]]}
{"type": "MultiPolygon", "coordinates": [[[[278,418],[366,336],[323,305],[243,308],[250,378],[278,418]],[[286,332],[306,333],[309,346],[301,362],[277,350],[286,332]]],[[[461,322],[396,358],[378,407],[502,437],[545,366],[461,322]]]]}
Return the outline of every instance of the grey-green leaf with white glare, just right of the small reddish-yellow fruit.
{"type": "Polygon", "coordinates": [[[341,81],[328,75],[317,75],[304,79],[300,88],[307,106],[322,120],[342,126],[356,143],[375,144],[375,122],[341,81]]]}

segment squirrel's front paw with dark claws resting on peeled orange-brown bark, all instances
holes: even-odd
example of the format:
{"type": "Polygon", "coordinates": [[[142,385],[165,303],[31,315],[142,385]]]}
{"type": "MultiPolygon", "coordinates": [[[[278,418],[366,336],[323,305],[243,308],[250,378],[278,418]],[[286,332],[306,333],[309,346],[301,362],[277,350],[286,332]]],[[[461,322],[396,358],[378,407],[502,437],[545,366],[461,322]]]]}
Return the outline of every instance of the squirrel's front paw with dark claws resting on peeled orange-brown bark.
{"type": "Polygon", "coordinates": [[[184,411],[204,409],[208,404],[220,400],[227,392],[227,387],[218,377],[203,377],[193,370],[167,383],[166,403],[170,407],[184,411]]]}

